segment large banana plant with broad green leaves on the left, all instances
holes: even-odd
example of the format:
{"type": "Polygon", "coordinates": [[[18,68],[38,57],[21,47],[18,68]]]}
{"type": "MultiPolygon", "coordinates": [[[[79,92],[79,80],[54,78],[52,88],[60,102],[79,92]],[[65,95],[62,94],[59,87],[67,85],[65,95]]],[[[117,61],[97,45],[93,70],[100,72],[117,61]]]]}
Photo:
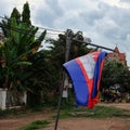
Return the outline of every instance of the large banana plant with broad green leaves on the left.
{"type": "Polygon", "coordinates": [[[5,38],[3,46],[0,46],[0,57],[1,57],[1,72],[3,88],[17,89],[23,86],[24,77],[27,78],[25,68],[31,65],[28,62],[28,57],[37,52],[41,46],[42,40],[46,37],[47,31],[44,30],[39,38],[35,38],[38,28],[31,26],[28,27],[25,23],[16,23],[15,17],[10,20],[10,28],[2,26],[8,29],[9,37],[5,38]]]}

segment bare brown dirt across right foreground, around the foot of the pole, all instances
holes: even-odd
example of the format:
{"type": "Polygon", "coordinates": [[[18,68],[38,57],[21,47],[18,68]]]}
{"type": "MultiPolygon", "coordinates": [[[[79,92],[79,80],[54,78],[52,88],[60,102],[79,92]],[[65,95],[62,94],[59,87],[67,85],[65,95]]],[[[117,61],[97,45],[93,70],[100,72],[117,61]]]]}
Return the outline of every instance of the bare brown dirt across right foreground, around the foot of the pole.
{"type": "MultiPolygon", "coordinates": [[[[130,130],[130,120],[70,118],[60,120],[57,130],[130,130]]],[[[53,130],[54,123],[41,130],[53,130]]]]}

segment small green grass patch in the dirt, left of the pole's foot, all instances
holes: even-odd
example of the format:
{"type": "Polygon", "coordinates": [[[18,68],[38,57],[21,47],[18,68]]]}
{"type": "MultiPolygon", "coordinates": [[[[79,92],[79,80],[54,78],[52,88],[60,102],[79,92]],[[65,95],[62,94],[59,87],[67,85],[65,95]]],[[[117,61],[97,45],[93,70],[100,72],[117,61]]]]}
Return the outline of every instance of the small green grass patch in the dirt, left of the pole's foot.
{"type": "Polygon", "coordinates": [[[37,130],[40,128],[46,128],[50,122],[48,120],[36,120],[31,123],[20,128],[20,130],[37,130]]]}

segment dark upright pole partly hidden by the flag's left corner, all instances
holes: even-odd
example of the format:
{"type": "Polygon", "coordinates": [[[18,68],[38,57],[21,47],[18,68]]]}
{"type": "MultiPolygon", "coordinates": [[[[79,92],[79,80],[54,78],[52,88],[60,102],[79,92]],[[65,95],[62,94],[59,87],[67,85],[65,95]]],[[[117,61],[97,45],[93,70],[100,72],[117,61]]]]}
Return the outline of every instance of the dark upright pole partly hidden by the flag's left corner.
{"type": "MultiPolygon", "coordinates": [[[[72,30],[67,29],[66,30],[66,52],[65,52],[65,62],[68,61],[69,57],[69,52],[70,52],[70,44],[72,44],[72,30]]],[[[58,106],[57,106],[57,114],[55,118],[55,125],[54,125],[54,130],[57,130],[57,123],[60,119],[60,109],[61,109],[61,104],[62,104],[62,95],[63,95],[63,90],[64,90],[64,80],[66,78],[65,72],[63,70],[63,76],[62,76],[62,88],[60,92],[60,99],[58,99],[58,106]]]]}

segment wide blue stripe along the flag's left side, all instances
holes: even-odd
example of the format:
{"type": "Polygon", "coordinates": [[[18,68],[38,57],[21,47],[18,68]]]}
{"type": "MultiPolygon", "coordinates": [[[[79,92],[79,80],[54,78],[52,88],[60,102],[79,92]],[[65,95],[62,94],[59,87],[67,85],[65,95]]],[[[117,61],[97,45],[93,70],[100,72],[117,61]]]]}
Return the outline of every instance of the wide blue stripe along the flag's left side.
{"type": "Polygon", "coordinates": [[[75,60],[65,63],[63,66],[73,80],[77,106],[87,106],[89,100],[89,90],[80,66],[75,60]]]}

